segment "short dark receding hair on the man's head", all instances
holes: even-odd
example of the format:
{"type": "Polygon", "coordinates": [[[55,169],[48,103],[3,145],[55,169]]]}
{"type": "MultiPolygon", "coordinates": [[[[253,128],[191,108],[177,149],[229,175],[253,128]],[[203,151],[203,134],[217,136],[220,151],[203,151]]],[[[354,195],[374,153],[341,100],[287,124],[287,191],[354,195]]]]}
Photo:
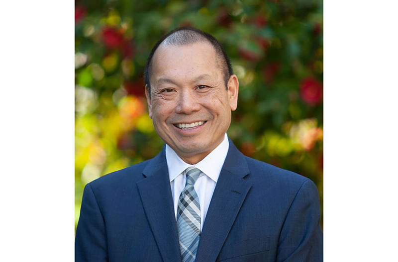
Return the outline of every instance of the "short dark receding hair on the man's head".
{"type": "MultiPolygon", "coordinates": [[[[151,53],[149,54],[148,60],[145,65],[144,78],[145,85],[148,88],[149,94],[151,93],[151,84],[149,81],[150,70],[152,67],[152,57],[155,54],[155,51],[158,49],[160,44],[166,41],[167,45],[177,45],[184,46],[190,45],[198,42],[208,42],[211,44],[216,53],[216,62],[220,64],[222,67],[222,71],[224,73],[224,82],[225,86],[228,83],[229,77],[233,74],[231,62],[221,44],[215,39],[212,35],[205,33],[199,29],[193,27],[178,27],[172,31],[170,31],[167,35],[162,37],[155,46],[152,48],[151,53]]],[[[228,88],[226,86],[226,88],[228,88]]]]}

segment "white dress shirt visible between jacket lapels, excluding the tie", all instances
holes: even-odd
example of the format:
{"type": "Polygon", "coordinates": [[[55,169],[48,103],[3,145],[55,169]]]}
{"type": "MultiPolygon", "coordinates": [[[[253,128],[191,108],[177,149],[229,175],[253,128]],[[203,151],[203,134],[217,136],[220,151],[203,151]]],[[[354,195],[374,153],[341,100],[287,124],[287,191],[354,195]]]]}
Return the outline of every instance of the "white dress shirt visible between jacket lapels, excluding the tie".
{"type": "Polygon", "coordinates": [[[190,165],[184,162],[166,144],[166,161],[169,169],[170,187],[174,202],[174,214],[177,220],[177,205],[181,192],[185,188],[186,176],[183,176],[184,170],[194,166],[202,173],[198,180],[195,182],[195,191],[199,197],[200,205],[200,231],[203,228],[204,219],[206,218],[207,209],[210,204],[211,196],[213,196],[215,185],[217,184],[218,177],[221,172],[222,165],[224,164],[225,157],[227,156],[229,142],[227,134],[225,133],[224,140],[211,151],[205,158],[195,165],[190,165]]]}

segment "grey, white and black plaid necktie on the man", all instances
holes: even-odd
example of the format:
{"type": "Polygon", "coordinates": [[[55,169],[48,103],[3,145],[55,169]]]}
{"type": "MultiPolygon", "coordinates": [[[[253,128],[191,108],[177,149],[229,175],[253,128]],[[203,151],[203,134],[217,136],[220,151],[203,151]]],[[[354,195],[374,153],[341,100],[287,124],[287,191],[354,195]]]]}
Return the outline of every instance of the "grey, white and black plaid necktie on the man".
{"type": "Polygon", "coordinates": [[[200,175],[196,167],[184,171],[187,175],[185,188],[181,192],[177,207],[177,228],[183,262],[194,262],[200,237],[200,206],[194,184],[200,175]]]}

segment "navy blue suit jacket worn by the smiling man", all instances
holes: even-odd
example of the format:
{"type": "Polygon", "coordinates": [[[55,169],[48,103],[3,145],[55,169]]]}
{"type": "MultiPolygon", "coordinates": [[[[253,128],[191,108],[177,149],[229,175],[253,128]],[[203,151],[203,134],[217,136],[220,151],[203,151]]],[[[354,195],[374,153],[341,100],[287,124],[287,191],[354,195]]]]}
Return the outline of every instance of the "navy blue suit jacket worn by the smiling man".
{"type": "MultiPolygon", "coordinates": [[[[322,261],[314,183],[229,144],[196,262],[322,261]]],[[[85,187],[75,260],[181,262],[165,149],[85,187]]]]}

